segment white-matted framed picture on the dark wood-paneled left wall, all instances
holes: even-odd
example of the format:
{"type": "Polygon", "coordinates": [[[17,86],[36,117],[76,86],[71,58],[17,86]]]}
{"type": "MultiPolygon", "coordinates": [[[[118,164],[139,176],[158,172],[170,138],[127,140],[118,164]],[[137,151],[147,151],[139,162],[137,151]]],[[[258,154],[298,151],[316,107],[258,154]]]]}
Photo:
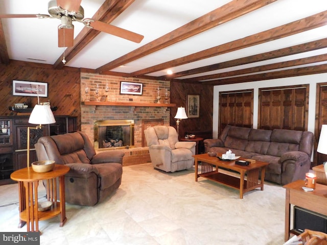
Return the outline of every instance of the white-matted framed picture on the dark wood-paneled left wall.
{"type": "Polygon", "coordinates": [[[13,80],[12,94],[20,96],[48,97],[48,83],[13,80]]]}

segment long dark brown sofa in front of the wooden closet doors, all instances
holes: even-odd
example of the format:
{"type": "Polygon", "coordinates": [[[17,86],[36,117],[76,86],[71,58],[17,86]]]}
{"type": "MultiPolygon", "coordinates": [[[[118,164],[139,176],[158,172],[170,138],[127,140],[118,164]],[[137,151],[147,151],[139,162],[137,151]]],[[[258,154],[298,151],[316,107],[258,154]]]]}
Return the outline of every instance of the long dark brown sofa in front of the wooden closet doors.
{"type": "Polygon", "coordinates": [[[205,139],[205,152],[225,153],[268,162],[265,180],[288,184],[305,179],[314,136],[309,131],[262,130],[226,126],[218,139],[205,139]]]}

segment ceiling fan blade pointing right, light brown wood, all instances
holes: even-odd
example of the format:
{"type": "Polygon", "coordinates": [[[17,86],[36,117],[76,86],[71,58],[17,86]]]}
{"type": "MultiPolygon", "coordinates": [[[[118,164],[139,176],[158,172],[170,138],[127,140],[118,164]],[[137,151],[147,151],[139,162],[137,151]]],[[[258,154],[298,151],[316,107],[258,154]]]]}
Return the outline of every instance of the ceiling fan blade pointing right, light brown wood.
{"type": "Polygon", "coordinates": [[[97,21],[97,20],[90,21],[90,26],[98,31],[106,32],[108,34],[111,34],[111,35],[114,35],[117,37],[121,37],[121,38],[130,40],[132,42],[139,43],[144,38],[144,36],[139,35],[137,33],[130,32],[125,29],[115,27],[115,26],[112,26],[111,24],[107,24],[107,23],[97,21]]]}

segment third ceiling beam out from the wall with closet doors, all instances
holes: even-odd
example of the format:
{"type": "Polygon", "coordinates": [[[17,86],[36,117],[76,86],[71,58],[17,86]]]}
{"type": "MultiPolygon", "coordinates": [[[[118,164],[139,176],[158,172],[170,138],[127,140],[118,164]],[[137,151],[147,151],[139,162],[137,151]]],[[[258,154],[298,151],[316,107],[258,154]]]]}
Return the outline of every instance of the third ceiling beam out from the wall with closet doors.
{"type": "MultiPolygon", "coordinates": [[[[320,48],[325,48],[325,47],[327,47],[327,39],[323,38],[323,39],[319,39],[319,40],[315,40],[315,41],[311,41],[311,42],[307,42],[307,43],[302,43],[302,44],[298,44],[298,45],[294,45],[294,46],[290,46],[290,47],[281,48],[279,50],[269,51],[269,52],[258,54],[258,55],[251,55],[251,56],[240,58],[240,59],[229,60],[229,61],[225,61],[225,62],[213,64],[213,65],[202,66],[202,67],[191,69],[191,70],[180,71],[180,72],[176,72],[175,74],[172,74],[172,75],[161,76],[158,79],[170,80],[172,78],[190,76],[190,75],[194,75],[194,74],[200,74],[202,72],[218,70],[218,69],[223,69],[223,68],[227,68],[227,67],[245,65],[245,64],[280,58],[280,57],[289,56],[289,55],[296,55],[296,54],[300,54],[300,53],[304,53],[304,52],[319,50],[320,48]]],[[[198,81],[198,79],[196,81],[198,81]]]]}

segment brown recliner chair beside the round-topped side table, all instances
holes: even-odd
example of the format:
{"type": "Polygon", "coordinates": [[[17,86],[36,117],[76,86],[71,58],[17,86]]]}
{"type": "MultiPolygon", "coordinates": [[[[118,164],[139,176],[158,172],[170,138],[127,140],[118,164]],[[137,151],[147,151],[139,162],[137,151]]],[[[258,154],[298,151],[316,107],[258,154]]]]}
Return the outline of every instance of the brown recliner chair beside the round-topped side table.
{"type": "Polygon", "coordinates": [[[54,160],[71,169],[65,175],[66,202],[93,206],[104,200],[122,182],[124,152],[96,154],[83,132],[41,137],[35,144],[39,161],[54,160]]]}

